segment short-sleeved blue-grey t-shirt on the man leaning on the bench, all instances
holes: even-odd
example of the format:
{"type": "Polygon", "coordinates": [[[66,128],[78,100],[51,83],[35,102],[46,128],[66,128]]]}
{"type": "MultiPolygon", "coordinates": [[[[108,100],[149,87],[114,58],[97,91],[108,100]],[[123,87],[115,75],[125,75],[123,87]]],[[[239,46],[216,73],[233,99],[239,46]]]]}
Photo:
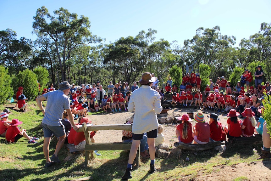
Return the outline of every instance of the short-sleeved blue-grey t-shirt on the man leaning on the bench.
{"type": "Polygon", "coordinates": [[[42,123],[60,126],[64,110],[70,109],[69,98],[61,90],[50,91],[43,96],[47,99],[47,105],[42,123]]]}

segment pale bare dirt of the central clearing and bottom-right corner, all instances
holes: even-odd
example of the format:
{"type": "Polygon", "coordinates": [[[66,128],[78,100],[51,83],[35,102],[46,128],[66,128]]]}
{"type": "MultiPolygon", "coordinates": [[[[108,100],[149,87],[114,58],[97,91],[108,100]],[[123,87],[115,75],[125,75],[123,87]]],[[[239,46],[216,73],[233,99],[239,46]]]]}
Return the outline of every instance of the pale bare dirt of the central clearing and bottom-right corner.
{"type": "MultiPolygon", "coordinates": [[[[187,112],[192,112],[193,109],[171,109],[167,113],[167,117],[176,117],[178,114],[182,115],[187,112]]],[[[199,112],[197,110],[195,114],[199,112]]],[[[206,121],[209,121],[207,115],[212,113],[211,111],[201,111],[204,114],[206,121]]],[[[105,124],[124,124],[126,119],[131,116],[130,112],[117,112],[117,113],[104,113],[103,115],[91,115],[88,116],[89,119],[95,125],[105,125],[105,124]]],[[[222,125],[226,125],[227,116],[226,114],[219,114],[220,122],[222,125]]],[[[193,121],[192,125],[195,125],[196,122],[193,121]]],[[[174,148],[174,142],[177,142],[177,137],[175,135],[175,125],[165,124],[164,132],[165,143],[169,144],[174,148]]],[[[118,130],[103,130],[98,131],[95,135],[96,142],[120,142],[122,139],[122,132],[118,130]]],[[[216,172],[212,172],[208,175],[201,175],[196,178],[196,181],[226,181],[232,180],[240,176],[246,176],[249,180],[253,181],[270,181],[271,180],[271,160],[268,161],[256,161],[252,163],[239,163],[232,166],[217,166],[214,168],[216,172]]]]}

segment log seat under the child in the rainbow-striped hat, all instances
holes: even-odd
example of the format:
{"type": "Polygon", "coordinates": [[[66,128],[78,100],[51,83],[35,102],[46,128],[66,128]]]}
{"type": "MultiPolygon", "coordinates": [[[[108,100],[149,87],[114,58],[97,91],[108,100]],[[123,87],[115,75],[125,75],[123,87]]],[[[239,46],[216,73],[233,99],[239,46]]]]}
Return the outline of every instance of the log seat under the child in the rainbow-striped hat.
{"type": "Polygon", "coordinates": [[[218,142],[209,142],[207,144],[185,144],[182,142],[175,142],[174,146],[177,148],[182,148],[184,150],[191,150],[191,151],[204,151],[204,150],[211,150],[214,149],[216,146],[220,146],[225,144],[224,141],[218,142]]]}

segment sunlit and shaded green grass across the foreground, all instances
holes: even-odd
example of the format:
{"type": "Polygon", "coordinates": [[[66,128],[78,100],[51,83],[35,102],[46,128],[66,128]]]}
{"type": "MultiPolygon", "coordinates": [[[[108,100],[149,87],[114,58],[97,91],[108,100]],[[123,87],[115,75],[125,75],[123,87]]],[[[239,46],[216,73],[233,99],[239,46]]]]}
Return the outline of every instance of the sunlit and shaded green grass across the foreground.
{"type": "MultiPolygon", "coordinates": [[[[27,112],[12,110],[9,120],[18,118],[23,121],[21,125],[27,130],[30,136],[39,137],[38,144],[27,144],[24,138],[19,139],[16,144],[6,144],[4,138],[0,138],[0,180],[72,180],[76,178],[92,176],[95,181],[119,180],[124,174],[128,162],[129,153],[126,151],[99,151],[102,156],[96,156],[84,167],[84,156],[81,154],[70,155],[66,148],[62,148],[59,157],[61,164],[54,167],[44,168],[45,158],[42,151],[43,131],[41,127],[42,113],[36,106],[36,102],[28,102],[27,112]],[[67,162],[63,160],[71,156],[67,162]]],[[[6,105],[15,107],[15,104],[6,105]]],[[[5,105],[0,105],[3,110],[5,105]]],[[[101,112],[93,114],[103,114],[101,112]]],[[[53,154],[57,140],[52,139],[50,153],[53,154]]],[[[140,167],[134,168],[133,180],[195,180],[199,175],[208,175],[217,172],[221,167],[231,166],[241,162],[250,163],[257,161],[260,152],[259,147],[241,146],[229,149],[226,153],[220,154],[216,150],[201,151],[197,154],[184,152],[178,158],[157,158],[155,165],[158,168],[154,174],[148,174],[149,160],[143,160],[140,167]],[[255,150],[256,149],[256,150],[255,150]],[[189,155],[190,161],[185,161],[189,155]]],[[[238,177],[235,180],[246,180],[246,177],[238,177]]]]}

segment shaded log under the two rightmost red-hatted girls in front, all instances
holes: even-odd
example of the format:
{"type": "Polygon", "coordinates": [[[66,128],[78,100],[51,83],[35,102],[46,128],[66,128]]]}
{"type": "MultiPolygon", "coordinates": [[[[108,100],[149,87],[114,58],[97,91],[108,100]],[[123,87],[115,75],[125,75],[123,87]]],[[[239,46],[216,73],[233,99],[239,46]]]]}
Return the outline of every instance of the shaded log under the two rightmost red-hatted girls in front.
{"type": "Polygon", "coordinates": [[[251,137],[236,137],[234,139],[229,139],[228,141],[230,144],[263,144],[262,135],[260,134],[253,134],[251,137]]]}

